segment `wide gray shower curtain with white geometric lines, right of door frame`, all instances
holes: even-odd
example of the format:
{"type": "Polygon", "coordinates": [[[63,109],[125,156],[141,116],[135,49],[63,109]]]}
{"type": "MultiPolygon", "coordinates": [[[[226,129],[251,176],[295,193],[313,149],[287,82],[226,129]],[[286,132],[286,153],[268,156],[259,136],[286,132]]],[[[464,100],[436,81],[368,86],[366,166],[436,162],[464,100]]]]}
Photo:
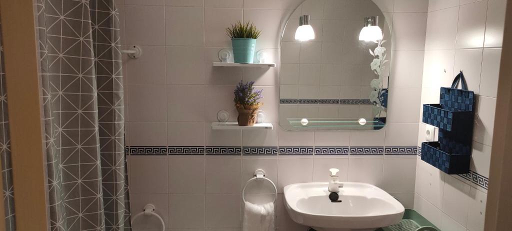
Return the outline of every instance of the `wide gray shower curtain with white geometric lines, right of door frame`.
{"type": "Polygon", "coordinates": [[[131,230],[113,0],[36,0],[50,228],[131,230]]]}

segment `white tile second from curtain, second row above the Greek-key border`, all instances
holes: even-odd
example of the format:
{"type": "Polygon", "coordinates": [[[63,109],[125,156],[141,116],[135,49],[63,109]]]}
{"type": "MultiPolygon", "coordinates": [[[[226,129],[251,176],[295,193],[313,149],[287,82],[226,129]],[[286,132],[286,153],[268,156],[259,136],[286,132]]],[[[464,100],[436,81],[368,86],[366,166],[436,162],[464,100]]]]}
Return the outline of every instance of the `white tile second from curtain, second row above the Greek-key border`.
{"type": "Polygon", "coordinates": [[[204,97],[204,86],[168,85],[167,121],[204,121],[204,97]]]}

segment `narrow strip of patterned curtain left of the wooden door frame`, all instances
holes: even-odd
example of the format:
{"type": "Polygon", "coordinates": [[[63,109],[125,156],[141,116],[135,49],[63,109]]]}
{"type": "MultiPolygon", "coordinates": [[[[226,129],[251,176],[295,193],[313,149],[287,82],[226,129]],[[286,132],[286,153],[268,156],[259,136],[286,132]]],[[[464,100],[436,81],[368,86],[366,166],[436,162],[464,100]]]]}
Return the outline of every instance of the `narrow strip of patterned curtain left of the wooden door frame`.
{"type": "Polygon", "coordinates": [[[4,206],[5,206],[5,230],[14,231],[16,223],[14,219],[14,197],[12,187],[11,167],[11,139],[9,136],[9,116],[7,114],[7,91],[5,87],[4,71],[4,44],[0,24],[0,158],[2,158],[2,181],[4,206]]]}

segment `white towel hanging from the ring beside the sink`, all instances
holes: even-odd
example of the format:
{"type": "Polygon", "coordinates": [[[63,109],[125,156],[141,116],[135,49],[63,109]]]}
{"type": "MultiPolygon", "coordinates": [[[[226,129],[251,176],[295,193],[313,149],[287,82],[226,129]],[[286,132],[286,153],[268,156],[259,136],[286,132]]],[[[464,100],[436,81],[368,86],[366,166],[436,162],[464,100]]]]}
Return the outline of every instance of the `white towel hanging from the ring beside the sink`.
{"type": "Polygon", "coordinates": [[[273,231],[274,203],[262,205],[245,202],[243,231],[273,231]]]}

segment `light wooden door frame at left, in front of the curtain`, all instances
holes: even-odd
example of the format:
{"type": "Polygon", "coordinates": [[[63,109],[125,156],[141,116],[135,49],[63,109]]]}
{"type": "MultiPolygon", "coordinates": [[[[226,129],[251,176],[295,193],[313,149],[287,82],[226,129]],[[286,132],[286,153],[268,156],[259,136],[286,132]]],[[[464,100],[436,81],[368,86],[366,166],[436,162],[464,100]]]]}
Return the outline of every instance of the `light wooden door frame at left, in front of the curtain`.
{"type": "Polygon", "coordinates": [[[0,0],[0,14],[9,97],[16,230],[49,230],[34,3],[32,0],[0,0]]]}

